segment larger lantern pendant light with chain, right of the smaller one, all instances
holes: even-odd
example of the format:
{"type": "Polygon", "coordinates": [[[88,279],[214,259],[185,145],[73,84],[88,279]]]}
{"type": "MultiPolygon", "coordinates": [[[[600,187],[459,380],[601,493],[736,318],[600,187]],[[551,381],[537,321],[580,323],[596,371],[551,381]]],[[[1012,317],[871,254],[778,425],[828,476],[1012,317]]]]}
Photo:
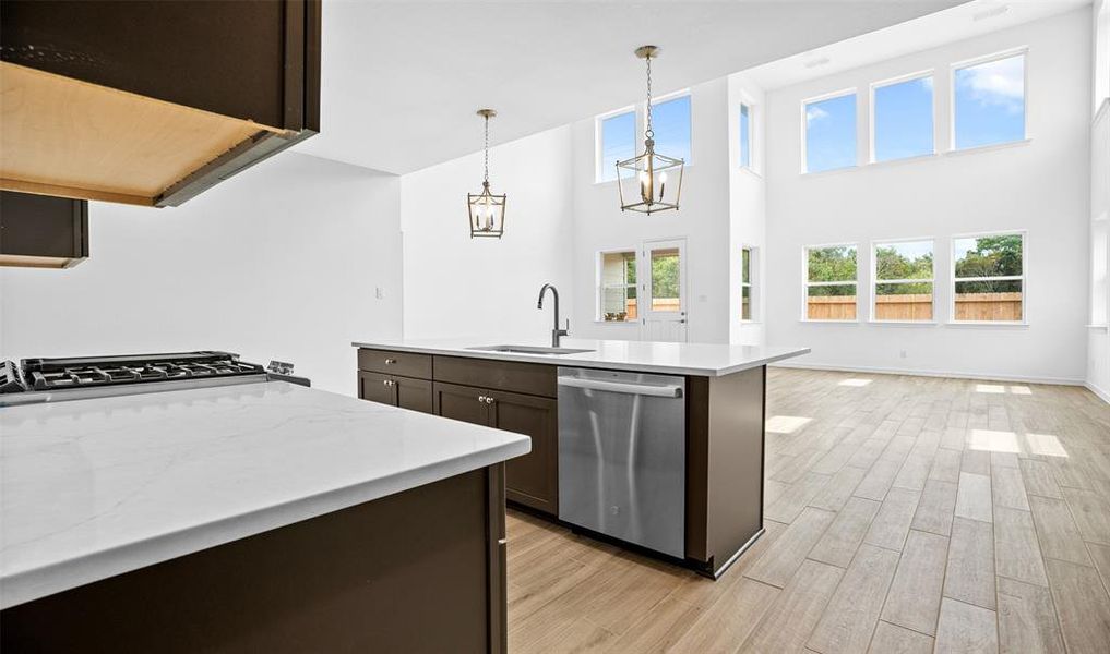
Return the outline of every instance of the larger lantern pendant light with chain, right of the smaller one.
{"type": "Polygon", "coordinates": [[[655,151],[655,132],[652,130],[652,59],[658,55],[659,49],[655,45],[643,45],[636,49],[636,57],[647,62],[644,153],[617,162],[620,211],[644,214],[668,210],[677,211],[678,198],[683,192],[683,168],[686,166],[686,161],[655,151]],[[627,198],[625,197],[625,186],[629,187],[627,198]]]}

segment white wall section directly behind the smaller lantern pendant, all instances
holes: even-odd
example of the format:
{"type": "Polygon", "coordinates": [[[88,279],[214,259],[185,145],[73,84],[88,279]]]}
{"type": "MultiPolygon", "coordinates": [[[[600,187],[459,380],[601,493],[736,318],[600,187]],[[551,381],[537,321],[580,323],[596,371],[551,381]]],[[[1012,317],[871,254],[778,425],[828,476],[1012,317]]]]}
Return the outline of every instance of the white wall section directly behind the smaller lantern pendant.
{"type": "Polygon", "coordinates": [[[545,283],[572,317],[569,127],[500,145],[490,159],[492,191],[508,195],[501,239],[471,238],[467,227],[466,194],[482,190],[481,152],[401,178],[405,338],[543,338],[553,318],[551,305],[536,309],[545,283]]]}

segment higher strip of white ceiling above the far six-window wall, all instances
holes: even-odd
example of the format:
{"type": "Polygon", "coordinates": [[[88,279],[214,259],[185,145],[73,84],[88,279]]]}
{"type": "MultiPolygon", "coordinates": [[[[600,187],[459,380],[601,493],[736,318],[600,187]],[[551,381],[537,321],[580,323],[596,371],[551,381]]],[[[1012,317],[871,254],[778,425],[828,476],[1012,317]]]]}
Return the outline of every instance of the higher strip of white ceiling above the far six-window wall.
{"type": "Polygon", "coordinates": [[[1040,20],[1090,3],[1090,0],[975,0],[885,30],[773,61],[745,73],[749,80],[766,90],[778,89],[1040,20]]]}

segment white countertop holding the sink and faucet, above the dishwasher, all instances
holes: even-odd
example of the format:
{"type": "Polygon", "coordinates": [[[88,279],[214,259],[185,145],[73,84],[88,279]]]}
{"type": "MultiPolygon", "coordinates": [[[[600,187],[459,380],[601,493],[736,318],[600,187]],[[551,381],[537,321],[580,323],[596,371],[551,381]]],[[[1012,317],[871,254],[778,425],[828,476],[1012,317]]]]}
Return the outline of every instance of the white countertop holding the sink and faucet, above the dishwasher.
{"type": "Polygon", "coordinates": [[[636,370],[672,375],[720,377],[809,352],[808,347],[763,347],[708,343],[652,343],[640,340],[592,340],[564,338],[559,347],[587,349],[571,355],[536,355],[468,349],[500,345],[551,346],[547,339],[442,338],[420,340],[355,341],[355,347],[391,349],[475,359],[527,361],[582,368],[636,370]]]}

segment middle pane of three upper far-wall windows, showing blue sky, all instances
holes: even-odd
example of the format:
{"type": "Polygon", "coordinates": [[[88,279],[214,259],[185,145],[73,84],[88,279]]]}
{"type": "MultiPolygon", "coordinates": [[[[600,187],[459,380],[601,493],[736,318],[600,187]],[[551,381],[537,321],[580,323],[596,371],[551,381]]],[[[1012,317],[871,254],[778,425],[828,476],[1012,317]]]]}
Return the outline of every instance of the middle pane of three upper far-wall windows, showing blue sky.
{"type": "Polygon", "coordinates": [[[932,152],[932,78],[875,90],[875,161],[932,152]]]}

